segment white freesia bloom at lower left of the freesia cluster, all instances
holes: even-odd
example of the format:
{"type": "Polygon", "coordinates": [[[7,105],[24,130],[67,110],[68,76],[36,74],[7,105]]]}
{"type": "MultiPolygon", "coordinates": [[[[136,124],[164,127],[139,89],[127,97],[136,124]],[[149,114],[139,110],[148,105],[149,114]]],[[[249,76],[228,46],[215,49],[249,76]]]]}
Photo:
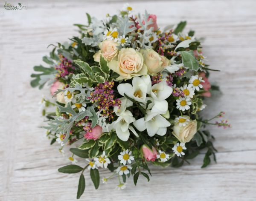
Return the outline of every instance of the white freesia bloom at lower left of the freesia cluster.
{"type": "Polygon", "coordinates": [[[129,110],[125,110],[120,114],[116,121],[113,121],[111,126],[116,130],[117,137],[122,141],[128,141],[130,131],[134,133],[136,137],[139,137],[135,129],[130,126],[130,123],[134,122],[135,118],[129,110]]]}

